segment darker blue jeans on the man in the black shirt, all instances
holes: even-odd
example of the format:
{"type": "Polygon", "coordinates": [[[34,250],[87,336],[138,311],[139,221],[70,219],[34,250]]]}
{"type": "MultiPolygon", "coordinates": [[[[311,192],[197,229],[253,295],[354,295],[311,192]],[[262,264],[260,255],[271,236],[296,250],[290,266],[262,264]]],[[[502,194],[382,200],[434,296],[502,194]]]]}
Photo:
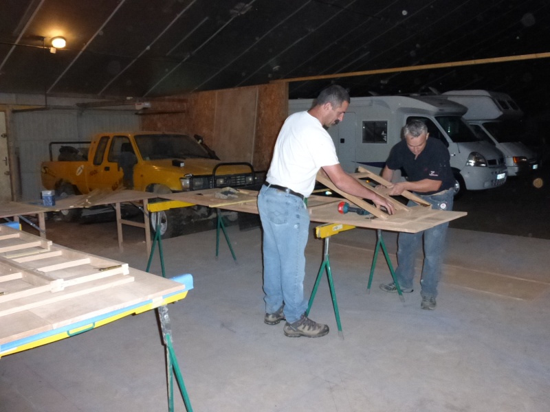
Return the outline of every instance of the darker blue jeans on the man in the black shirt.
{"type": "MultiPolygon", "coordinates": [[[[419,195],[432,205],[432,209],[452,210],[453,191],[447,190],[442,194],[419,195]]],[[[416,205],[409,201],[408,206],[416,205]]],[[[420,279],[422,297],[437,297],[437,284],[443,266],[443,250],[445,236],[449,222],[442,223],[431,229],[418,233],[399,233],[397,238],[397,269],[395,275],[401,288],[412,288],[412,279],[415,277],[415,257],[418,247],[424,238],[424,261],[422,277],[420,279]]]]}

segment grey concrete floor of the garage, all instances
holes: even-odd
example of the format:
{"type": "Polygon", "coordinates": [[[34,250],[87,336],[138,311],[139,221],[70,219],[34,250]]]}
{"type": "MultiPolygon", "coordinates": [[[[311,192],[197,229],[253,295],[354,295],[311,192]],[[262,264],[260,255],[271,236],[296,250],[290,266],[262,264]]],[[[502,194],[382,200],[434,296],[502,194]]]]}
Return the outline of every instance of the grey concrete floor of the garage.
{"type": "MultiPolygon", "coordinates": [[[[114,223],[48,222],[58,244],[146,268],[142,231],[114,223]]],[[[312,226],[313,227],[313,226],[312,226]]],[[[310,316],[320,339],[290,339],[263,323],[261,231],[229,227],[163,242],[168,277],[192,273],[195,288],[169,306],[175,350],[194,411],[549,411],[550,240],[450,229],[437,309],[418,288],[401,303],[366,284],[375,232],[331,240],[342,340],[326,277],[310,316]]],[[[384,233],[395,262],[395,233],[384,233]]],[[[307,247],[309,297],[322,240],[307,247]]],[[[420,261],[418,262],[420,264],[420,261]]],[[[160,274],[158,253],[152,273],[160,274]]],[[[418,279],[417,279],[418,282],[418,279]]],[[[177,393],[177,392],[176,392],[177,393]]],[[[167,411],[164,347],[155,312],[0,359],[2,412],[167,411]]],[[[177,393],[175,411],[185,411],[177,393]]]]}

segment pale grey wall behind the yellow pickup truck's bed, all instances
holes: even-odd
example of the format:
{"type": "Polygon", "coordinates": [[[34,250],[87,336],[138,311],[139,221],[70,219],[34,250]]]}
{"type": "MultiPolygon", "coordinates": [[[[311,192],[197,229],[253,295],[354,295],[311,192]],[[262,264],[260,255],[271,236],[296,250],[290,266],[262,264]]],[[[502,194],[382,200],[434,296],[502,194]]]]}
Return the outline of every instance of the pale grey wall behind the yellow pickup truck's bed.
{"type": "Polygon", "coordinates": [[[102,131],[140,130],[140,117],[133,111],[15,111],[11,120],[10,139],[19,163],[23,201],[40,198],[40,164],[50,159],[50,141],[89,141],[102,131]]]}

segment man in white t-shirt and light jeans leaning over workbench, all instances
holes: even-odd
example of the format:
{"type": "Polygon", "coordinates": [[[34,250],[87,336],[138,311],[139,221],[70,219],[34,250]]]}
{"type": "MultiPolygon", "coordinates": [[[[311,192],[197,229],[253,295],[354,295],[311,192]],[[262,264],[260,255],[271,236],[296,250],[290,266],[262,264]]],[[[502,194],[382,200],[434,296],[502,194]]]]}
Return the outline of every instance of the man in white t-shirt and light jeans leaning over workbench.
{"type": "Polygon", "coordinates": [[[270,170],[258,196],[263,227],[263,290],[268,325],[286,320],[286,336],[325,336],[328,325],[305,316],[305,247],[309,214],[304,203],[314,190],[315,177],[325,170],[338,189],[366,198],[393,214],[393,205],[349,176],[340,165],[333,141],[325,128],[344,118],[349,94],[330,86],[316,105],[290,115],[277,137],[270,170]]]}

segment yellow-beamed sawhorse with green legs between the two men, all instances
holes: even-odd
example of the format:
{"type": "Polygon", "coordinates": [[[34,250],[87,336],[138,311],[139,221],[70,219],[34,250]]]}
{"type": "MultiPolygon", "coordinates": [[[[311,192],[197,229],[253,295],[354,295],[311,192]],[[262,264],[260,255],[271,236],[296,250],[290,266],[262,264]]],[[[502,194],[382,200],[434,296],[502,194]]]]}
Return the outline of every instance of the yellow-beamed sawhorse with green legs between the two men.
{"type": "MultiPolygon", "coordinates": [[[[317,289],[319,287],[319,283],[321,281],[321,276],[323,272],[325,272],[326,270],[327,277],[329,279],[329,288],[331,291],[332,303],[334,307],[334,315],[336,316],[336,325],[338,325],[338,336],[340,336],[341,339],[344,339],[344,334],[342,332],[342,324],[340,323],[340,312],[338,311],[338,302],[336,301],[336,290],[334,290],[334,284],[332,280],[331,263],[329,259],[329,244],[330,244],[331,236],[334,236],[340,233],[341,231],[355,229],[355,226],[342,225],[338,223],[327,223],[325,225],[320,225],[315,229],[316,229],[316,237],[324,240],[325,253],[324,253],[324,258],[323,258],[321,267],[319,269],[319,273],[317,275],[317,279],[315,281],[314,288],[311,291],[311,297],[309,297],[309,304],[307,306],[307,311],[305,313],[306,313],[306,316],[309,315],[309,310],[311,309],[311,306],[314,304],[314,299],[317,293],[317,289]]],[[[378,255],[378,251],[380,251],[380,248],[382,248],[382,251],[384,252],[384,257],[386,258],[386,262],[388,264],[388,267],[390,268],[391,277],[393,279],[393,282],[395,282],[395,286],[397,287],[397,293],[399,293],[399,299],[401,301],[405,301],[403,297],[403,293],[401,292],[401,288],[399,287],[399,282],[397,282],[397,278],[395,277],[395,271],[393,270],[393,265],[391,264],[388,251],[386,250],[386,244],[384,244],[384,239],[382,238],[382,230],[380,229],[377,229],[377,242],[376,242],[376,247],[374,251],[373,262],[371,264],[371,274],[369,275],[369,284],[367,285],[367,294],[371,292],[371,284],[373,282],[373,275],[374,275],[374,270],[376,266],[377,255],[378,255]]]]}

